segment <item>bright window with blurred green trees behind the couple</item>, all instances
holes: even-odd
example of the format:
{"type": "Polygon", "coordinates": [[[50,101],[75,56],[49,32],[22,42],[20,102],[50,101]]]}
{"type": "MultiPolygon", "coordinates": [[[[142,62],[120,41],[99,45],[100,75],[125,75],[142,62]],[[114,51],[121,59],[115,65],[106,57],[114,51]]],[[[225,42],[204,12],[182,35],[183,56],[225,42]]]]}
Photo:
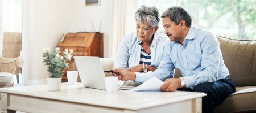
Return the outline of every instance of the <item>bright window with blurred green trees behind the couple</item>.
{"type": "MultiPolygon", "coordinates": [[[[191,15],[193,26],[224,37],[256,40],[255,0],[138,0],[137,3],[138,7],[156,6],[160,15],[168,7],[181,6],[191,15]]],[[[159,24],[159,31],[163,32],[162,23],[159,24]]]]}

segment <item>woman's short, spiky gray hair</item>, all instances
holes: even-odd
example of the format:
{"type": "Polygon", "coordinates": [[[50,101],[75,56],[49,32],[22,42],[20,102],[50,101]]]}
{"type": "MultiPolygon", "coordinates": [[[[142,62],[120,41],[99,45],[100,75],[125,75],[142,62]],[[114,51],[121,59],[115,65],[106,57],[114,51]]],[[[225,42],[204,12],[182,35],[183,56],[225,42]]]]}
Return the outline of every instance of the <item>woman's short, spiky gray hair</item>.
{"type": "Polygon", "coordinates": [[[135,21],[157,27],[160,21],[158,9],[155,6],[141,6],[135,13],[135,21]]]}

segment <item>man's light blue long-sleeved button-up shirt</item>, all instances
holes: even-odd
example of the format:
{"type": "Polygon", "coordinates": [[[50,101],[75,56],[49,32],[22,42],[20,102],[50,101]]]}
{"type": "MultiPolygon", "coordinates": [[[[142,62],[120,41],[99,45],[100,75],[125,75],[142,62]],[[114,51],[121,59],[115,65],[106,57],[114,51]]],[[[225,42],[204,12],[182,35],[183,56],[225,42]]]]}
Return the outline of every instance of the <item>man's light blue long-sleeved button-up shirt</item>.
{"type": "Polygon", "coordinates": [[[183,46],[178,41],[168,41],[159,68],[154,72],[136,72],[135,81],[144,82],[152,76],[164,81],[171,77],[174,68],[180,69],[187,88],[204,82],[215,82],[229,75],[216,36],[195,27],[189,29],[183,46]]]}

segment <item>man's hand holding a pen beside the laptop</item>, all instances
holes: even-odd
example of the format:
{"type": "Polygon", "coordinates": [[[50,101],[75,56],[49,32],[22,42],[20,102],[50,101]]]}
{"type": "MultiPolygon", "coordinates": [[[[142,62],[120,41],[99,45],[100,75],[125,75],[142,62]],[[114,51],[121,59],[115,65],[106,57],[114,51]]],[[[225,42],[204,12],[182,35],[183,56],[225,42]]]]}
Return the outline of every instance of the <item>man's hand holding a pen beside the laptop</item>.
{"type": "Polygon", "coordinates": [[[111,69],[112,75],[113,76],[118,76],[118,80],[133,80],[135,81],[135,72],[130,72],[127,71],[126,69],[122,69],[122,68],[115,68],[115,69],[111,69]]]}

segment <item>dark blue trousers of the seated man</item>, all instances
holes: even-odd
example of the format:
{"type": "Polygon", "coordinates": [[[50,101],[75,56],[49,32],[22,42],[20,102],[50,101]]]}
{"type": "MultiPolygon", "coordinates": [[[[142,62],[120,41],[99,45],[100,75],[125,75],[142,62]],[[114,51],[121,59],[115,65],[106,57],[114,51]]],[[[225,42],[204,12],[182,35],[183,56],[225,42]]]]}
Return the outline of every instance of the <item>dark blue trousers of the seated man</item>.
{"type": "Polygon", "coordinates": [[[203,92],[207,96],[202,98],[202,110],[204,112],[214,112],[214,107],[223,102],[230,94],[236,91],[234,82],[228,76],[216,82],[202,83],[191,88],[179,88],[177,90],[189,92],[203,92]]]}

